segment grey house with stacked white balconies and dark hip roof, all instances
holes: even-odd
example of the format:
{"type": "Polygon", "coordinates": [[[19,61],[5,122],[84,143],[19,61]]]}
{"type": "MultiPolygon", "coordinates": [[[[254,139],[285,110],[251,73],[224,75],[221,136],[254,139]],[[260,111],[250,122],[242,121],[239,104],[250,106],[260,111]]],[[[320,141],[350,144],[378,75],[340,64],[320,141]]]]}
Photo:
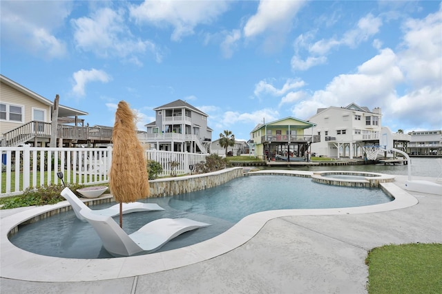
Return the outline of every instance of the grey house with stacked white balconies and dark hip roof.
{"type": "Polygon", "coordinates": [[[153,109],[155,121],[146,126],[145,138],[151,149],[210,153],[212,129],[207,114],[182,100],[153,109]]]}

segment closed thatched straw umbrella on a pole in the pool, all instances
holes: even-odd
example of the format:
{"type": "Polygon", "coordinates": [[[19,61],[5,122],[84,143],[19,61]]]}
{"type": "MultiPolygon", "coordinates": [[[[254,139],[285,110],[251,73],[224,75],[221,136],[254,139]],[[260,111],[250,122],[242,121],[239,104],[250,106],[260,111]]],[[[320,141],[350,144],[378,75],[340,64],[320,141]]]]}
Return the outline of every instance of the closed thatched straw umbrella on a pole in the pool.
{"type": "Polygon", "coordinates": [[[123,202],[134,202],[149,196],[148,174],[144,149],[137,138],[136,116],[128,103],[120,101],[113,127],[112,165],[109,189],[119,202],[119,227],[123,227],[123,202]]]}

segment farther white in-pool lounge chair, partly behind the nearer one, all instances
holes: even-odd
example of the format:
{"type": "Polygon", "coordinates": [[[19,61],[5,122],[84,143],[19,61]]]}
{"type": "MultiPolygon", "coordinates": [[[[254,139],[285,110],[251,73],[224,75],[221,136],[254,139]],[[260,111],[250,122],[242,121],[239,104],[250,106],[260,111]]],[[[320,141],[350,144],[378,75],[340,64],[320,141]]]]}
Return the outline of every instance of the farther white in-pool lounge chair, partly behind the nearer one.
{"type": "MultiPolygon", "coordinates": [[[[118,216],[119,215],[119,204],[115,204],[111,207],[108,207],[106,209],[90,209],[86,204],[84,204],[83,201],[81,201],[77,195],[73,191],[71,191],[68,187],[64,188],[63,191],[61,191],[61,196],[63,196],[68,202],[70,203],[70,206],[72,206],[72,209],[75,212],[75,216],[79,220],[82,220],[83,222],[86,222],[86,220],[81,216],[80,211],[81,209],[86,209],[91,211],[91,213],[100,215],[100,216],[118,216]]],[[[123,203],[123,214],[124,213],[131,213],[131,212],[140,212],[140,211],[158,211],[158,210],[164,210],[160,205],[156,203],[142,203],[142,202],[129,202],[129,203],[123,203]]]]}

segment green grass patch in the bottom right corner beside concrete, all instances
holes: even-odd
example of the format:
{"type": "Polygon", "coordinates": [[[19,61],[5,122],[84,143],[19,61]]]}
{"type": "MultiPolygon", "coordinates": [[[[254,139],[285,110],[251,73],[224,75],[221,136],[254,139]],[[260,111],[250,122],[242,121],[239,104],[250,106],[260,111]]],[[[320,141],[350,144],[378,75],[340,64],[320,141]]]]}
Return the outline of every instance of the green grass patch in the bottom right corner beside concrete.
{"type": "Polygon", "coordinates": [[[442,244],[401,244],[369,252],[368,293],[442,293],[442,244]]]}

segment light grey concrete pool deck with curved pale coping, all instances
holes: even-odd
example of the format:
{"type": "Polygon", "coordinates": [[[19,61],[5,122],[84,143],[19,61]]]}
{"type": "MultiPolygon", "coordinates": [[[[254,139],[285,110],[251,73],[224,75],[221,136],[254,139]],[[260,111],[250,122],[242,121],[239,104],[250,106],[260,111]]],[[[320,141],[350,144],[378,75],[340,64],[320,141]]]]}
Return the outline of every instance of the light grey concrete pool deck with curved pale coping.
{"type": "MultiPolygon", "coordinates": [[[[436,178],[413,177],[416,180],[436,178]]],[[[266,211],[211,240],[131,258],[75,260],[4,240],[32,208],[0,211],[1,293],[366,293],[367,252],[442,243],[442,197],[385,183],[396,200],[348,209],[266,211]],[[419,202],[419,203],[417,203],[419,202]],[[417,204],[416,204],[417,203],[417,204]]]]}

